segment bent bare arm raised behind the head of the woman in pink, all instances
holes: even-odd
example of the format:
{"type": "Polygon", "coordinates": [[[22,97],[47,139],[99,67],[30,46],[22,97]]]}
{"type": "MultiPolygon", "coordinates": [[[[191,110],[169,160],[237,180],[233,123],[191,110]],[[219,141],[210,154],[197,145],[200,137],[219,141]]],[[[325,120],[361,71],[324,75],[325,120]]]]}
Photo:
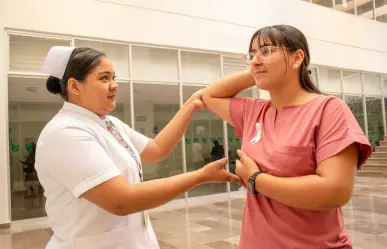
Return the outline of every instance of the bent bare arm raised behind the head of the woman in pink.
{"type": "Polygon", "coordinates": [[[239,72],[212,83],[204,90],[202,99],[208,109],[232,125],[229,110],[231,98],[254,85],[250,71],[239,72]]]}

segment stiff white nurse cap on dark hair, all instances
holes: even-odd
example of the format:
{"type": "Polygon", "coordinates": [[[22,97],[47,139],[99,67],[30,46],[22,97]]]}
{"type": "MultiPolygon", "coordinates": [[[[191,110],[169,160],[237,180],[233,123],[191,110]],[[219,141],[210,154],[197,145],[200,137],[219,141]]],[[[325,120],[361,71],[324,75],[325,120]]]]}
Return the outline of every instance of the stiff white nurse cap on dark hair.
{"type": "Polygon", "coordinates": [[[62,79],[75,47],[54,46],[43,63],[43,73],[62,79]]]}

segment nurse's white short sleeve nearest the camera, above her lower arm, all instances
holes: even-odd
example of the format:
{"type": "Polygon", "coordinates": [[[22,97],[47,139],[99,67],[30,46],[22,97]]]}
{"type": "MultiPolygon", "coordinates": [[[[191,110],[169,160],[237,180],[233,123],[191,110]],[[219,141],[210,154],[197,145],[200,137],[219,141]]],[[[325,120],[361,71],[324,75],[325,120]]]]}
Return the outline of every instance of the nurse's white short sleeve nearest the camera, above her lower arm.
{"type": "Polygon", "coordinates": [[[77,198],[95,186],[121,175],[92,132],[63,127],[41,145],[37,163],[77,198]]]}

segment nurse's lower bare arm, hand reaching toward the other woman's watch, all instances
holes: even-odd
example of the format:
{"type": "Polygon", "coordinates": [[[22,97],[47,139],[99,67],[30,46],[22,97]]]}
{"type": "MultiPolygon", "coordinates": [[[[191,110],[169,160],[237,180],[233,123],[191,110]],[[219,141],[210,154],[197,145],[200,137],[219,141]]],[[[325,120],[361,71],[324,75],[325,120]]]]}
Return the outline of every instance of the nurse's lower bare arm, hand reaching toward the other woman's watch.
{"type": "Polygon", "coordinates": [[[222,159],[197,171],[134,185],[118,176],[90,189],[81,197],[115,215],[133,214],[161,206],[199,184],[240,182],[239,177],[224,170],[226,162],[222,159]]]}

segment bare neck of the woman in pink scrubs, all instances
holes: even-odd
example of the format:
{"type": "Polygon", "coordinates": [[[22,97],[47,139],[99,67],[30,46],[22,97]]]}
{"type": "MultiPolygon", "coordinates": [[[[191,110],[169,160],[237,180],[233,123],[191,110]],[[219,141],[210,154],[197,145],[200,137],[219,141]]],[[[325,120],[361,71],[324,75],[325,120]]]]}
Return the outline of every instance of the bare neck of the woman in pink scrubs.
{"type": "Polygon", "coordinates": [[[299,82],[283,85],[286,87],[269,92],[272,105],[279,111],[286,105],[297,103],[297,99],[306,93],[299,82]]]}

